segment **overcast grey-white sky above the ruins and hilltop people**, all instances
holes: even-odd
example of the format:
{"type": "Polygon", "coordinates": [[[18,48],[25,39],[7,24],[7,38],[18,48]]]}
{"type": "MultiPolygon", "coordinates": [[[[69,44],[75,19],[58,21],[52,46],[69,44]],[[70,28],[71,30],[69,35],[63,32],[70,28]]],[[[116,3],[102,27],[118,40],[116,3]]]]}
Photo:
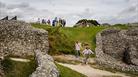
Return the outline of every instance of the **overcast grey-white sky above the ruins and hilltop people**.
{"type": "Polygon", "coordinates": [[[99,23],[138,22],[138,0],[0,0],[0,19],[18,16],[35,22],[38,18],[66,20],[68,26],[80,19],[99,23]]]}

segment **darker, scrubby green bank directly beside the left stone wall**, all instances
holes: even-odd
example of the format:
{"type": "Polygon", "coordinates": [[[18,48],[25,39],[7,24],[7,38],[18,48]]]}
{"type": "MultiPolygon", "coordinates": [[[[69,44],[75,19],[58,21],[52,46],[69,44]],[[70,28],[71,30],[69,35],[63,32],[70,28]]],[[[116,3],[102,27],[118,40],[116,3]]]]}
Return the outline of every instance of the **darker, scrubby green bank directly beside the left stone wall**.
{"type": "Polygon", "coordinates": [[[62,27],[51,27],[40,24],[32,24],[32,26],[48,31],[49,54],[73,54],[73,41],[69,40],[67,35],[61,31],[62,27]]]}

